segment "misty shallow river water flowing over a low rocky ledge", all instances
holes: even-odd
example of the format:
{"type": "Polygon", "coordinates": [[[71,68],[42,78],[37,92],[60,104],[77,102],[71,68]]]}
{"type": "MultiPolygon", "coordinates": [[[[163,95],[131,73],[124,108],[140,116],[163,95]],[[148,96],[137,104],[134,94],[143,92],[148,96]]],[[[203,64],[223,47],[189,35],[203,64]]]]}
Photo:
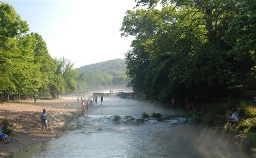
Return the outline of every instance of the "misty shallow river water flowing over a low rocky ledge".
{"type": "Polygon", "coordinates": [[[188,124],[181,110],[125,99],[104,99],[97,106],[72,122],[79,130],[14,157],[250,157],[230,135],[188,124]],[[138,119],[142,112],[170,117],[124,124],[127,116],[138,119]],[[120,116],[119,123],[113,115],[120,116]]]}

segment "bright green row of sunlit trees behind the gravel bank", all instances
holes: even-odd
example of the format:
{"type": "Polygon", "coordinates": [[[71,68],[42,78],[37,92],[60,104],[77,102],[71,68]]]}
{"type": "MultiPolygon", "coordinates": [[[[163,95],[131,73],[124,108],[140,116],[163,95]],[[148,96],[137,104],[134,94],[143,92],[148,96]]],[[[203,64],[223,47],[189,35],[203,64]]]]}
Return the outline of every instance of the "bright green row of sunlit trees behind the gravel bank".
{"type": "Polygon", "coordinates": [[[76,90],[78,73],[64,58],[51,58],[43,37],[28,33],[29,24],[8,3],[0,2],[0,92],[50,94],[53,98],[76,90]]]}

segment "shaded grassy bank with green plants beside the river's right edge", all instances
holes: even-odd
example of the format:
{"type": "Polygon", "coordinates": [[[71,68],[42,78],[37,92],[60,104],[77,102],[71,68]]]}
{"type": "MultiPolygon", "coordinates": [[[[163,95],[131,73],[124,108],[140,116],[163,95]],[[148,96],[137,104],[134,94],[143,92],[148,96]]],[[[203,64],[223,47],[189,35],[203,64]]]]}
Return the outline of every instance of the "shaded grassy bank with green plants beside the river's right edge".
{"type": "Polygon", "coordinates": [[[195,124],[234,134],[256,156],[256,102],[253,100],[226,99],[201,103],[191,113],[195,124]],[[235,126],[228,125],[226,120],[232,109],[239,114],[239,123],[235,126]]]}

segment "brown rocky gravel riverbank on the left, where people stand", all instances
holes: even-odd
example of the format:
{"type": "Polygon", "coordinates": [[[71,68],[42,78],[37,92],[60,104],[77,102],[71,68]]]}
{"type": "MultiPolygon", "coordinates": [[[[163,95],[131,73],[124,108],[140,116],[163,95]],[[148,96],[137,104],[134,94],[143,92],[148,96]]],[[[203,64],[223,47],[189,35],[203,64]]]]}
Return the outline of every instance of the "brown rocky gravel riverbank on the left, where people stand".
{"type": "Polygon", "coordinates": [[[0,121],[8,119],[16,126],[14,133],[9,136],[9,144],[0,141],[0,157],[64,135],[67,131],[66,123],[80,116],[80,104],[75,99],[0,103],[0,109],[0,121]],[[39,119],[43,109],[48,114],[49,127],[46,134],[41,131],[39,119]]]}

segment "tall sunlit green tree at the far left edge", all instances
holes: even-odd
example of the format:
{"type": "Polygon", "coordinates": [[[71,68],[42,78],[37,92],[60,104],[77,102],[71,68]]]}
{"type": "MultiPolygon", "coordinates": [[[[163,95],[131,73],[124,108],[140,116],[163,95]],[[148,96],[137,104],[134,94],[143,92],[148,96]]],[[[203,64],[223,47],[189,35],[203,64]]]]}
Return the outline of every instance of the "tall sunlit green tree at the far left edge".
{"type": "Polygon", "coordinates": [[[12,6],[2,2],[0,2],[0,24],[0,91],[5,93],[15,89],[15,83],[11,80],[18,62],[13,60],[17,50],[15,38],[26,33],[29,27],[12,6]]]}

